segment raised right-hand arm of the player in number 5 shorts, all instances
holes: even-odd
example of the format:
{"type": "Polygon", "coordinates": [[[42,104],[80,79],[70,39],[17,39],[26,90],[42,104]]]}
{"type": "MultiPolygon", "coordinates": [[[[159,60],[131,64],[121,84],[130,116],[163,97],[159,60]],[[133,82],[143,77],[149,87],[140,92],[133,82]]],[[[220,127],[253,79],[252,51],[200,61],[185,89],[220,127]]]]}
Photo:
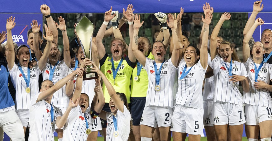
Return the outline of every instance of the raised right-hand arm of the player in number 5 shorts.
{"type": "Polygon", "coordinates": [[[203,21],[203,36],[202,44],[200,47],[200,63],[201,66],[206,69],[208,65],[208,36],[209,36],[209,25],[212,21],[212,12],[208,11],[205,14],[205,19],[202,16],[203,21]]]}

